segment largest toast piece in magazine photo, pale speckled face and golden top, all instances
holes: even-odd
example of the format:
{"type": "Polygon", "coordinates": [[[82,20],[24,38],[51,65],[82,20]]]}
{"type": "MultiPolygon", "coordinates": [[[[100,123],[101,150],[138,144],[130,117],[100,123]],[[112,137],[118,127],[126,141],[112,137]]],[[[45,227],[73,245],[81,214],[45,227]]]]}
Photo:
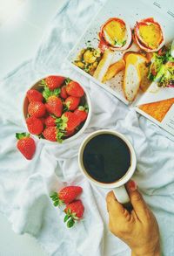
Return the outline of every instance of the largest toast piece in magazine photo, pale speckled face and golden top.
{"type": "Polygon", "coordinates": [[[141,82],[139,64],[145,63],[145,61],[145,57],[136,52],[130,52],[125,57],[124,95],[129,101],[133,101],[137,96],[141,82]]]}

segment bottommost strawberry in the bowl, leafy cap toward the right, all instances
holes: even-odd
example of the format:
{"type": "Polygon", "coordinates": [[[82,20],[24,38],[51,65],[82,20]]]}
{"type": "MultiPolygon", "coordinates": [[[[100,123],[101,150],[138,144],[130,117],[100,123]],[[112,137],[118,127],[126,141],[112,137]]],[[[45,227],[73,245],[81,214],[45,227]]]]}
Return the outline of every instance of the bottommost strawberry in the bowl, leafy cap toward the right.
{"type": "Polygon", "coordinates": [[[44,138],[50,142],[62,142],[63,135],[64,134],[59,132],[58,128],[55,126],[50,126],[43,130],[44,138]]]}

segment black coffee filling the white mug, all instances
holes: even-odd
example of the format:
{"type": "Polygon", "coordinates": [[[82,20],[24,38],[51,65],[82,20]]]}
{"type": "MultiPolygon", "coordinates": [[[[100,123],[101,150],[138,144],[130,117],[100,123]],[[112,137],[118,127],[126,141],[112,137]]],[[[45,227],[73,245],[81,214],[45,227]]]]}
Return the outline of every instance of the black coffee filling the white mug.
{"type": "Polygon", "coordinates": [[[83,156],[84,168],[100,183],[113,183],[131,166],[131,153],[126,143],[115,135],[97,135],[87,143],[83,156]]]}

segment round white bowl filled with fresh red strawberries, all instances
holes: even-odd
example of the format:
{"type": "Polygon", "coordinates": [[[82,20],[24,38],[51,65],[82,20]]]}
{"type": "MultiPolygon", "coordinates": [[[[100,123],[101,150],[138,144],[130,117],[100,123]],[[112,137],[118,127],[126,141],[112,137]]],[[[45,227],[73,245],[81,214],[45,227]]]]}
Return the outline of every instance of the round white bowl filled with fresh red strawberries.
{"type": "Polygon", "coordinates": [[[23,100],[23,118],[30,134],[44,142],[70,142],[82,135],[91,116],[88,91],[59,75],[37,80],[23,100]]]}

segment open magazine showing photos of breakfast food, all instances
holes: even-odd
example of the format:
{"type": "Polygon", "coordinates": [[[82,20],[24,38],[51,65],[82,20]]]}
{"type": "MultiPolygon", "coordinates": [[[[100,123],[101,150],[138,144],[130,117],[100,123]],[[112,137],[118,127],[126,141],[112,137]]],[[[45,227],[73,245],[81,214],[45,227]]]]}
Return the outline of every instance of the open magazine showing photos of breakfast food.
{"type": "Polygon", "coordinates": [[[173,27],[173,17],[152,3],[110,0],[67,60],[77,72],[174,135],[173,27]]]}

